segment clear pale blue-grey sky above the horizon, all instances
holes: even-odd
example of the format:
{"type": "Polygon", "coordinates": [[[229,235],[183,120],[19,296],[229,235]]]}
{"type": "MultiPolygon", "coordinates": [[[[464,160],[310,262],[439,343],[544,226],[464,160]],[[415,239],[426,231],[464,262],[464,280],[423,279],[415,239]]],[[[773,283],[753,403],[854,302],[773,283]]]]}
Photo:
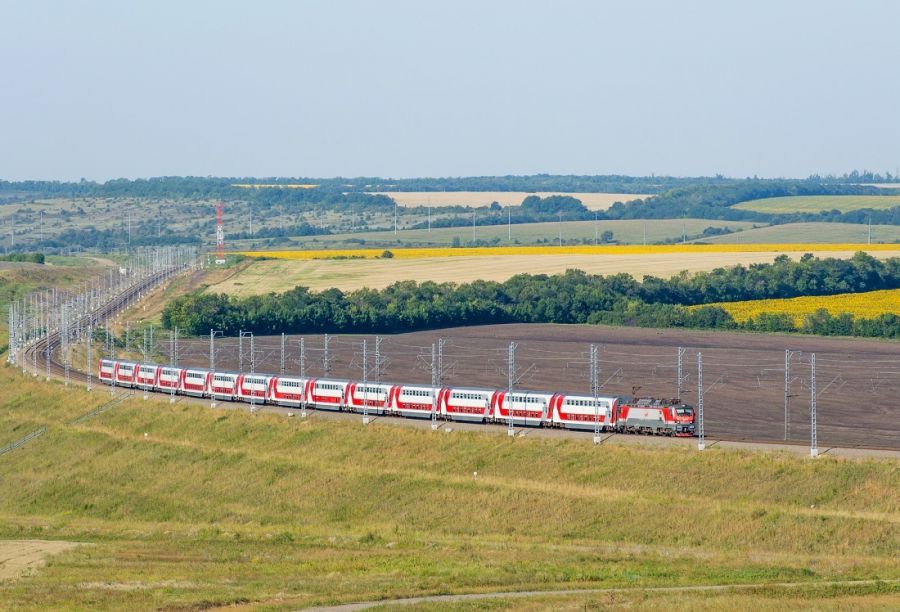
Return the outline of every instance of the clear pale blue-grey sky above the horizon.
{"type": "Polygon", "coordinates": [[[900,166],[900,2],[0,0],[0,179],[900,166]]]}

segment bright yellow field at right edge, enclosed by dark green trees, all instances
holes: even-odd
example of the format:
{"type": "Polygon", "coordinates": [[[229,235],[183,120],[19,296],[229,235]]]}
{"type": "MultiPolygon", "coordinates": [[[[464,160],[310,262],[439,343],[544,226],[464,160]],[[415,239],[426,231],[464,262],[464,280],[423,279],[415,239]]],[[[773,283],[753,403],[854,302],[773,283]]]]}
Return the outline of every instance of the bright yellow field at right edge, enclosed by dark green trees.
{"type": "Polygon", "coordinates": [[[710,304],[721,306],[736,321],[744,322],[763,313],[789,314],[798,325],[804,317],[820,308],[833,315],[848,313],[855,317],[873,319],[881,314],[900,315],[900,289],[869,291],[866,293],[841,293],[829,296],[804,296],[783,300],[749,300],[710,304]]]}

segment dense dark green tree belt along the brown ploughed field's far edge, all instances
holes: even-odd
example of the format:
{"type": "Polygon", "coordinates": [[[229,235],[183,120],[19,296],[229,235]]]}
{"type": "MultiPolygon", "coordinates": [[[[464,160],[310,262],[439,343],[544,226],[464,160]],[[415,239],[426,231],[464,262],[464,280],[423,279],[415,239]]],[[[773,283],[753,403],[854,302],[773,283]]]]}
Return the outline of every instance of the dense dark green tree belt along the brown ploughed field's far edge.
{"type": "Polygon", "coordinates": [[[863,253],[850,262],[804,256],[773,264],[718,269],[671,280],[628,274],[520,274],[506,282],[434,283],[402,281],[383,289],[338,289],[314,293],[296,287],[283,294],[233,298],[193,293],[171,301],[162,322],[192,334],[221,329],[259,334],[406,332],[491,323],[606,323],[646,327],[763,329],[847,332],[900,337],[900,320],[890,316],[854,321],[818,316],[801,329],[783,318],[739,325],[721,307],[694,304],[758,298],[828,295],[845,291],[900,288],[900,259],[878,261],[863,253]],[[849,264],[849,265],[845,265],[849,264]],[[789,325],[790,323],[790,325],[789,325]]]}

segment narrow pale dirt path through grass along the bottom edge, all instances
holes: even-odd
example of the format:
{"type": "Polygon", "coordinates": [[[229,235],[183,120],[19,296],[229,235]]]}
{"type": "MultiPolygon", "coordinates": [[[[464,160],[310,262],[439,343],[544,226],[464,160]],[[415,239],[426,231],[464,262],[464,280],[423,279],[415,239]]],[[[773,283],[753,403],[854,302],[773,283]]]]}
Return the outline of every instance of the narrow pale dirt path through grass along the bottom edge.
{"type": "Polygon", "coordinates": [[[620,589],[564,589],[557,591],[512,591],[505,593],[468,593],[464,595],[433,595],[424,597],[407,597],[404,599],[365,601],[342,606],[322,608],[308,608],[316,612],[353,612],[355,610],[368,610],[376,606],[408,606],[423,603],[456,603],[462,601],[482,601],[491,599],[520,599],[528,597],[565,597],[568,595],[606,595],[616,593],[691,593],[691,592],[726,592],[749,591],[753,589],[795,589],[795,588],[829,588],[834,586],[869,586],[878,583],[897,584],[900,580],[841,580],[827,582],[779,582],[757,584],[714,584],[683,587],[649,587],[649,588],[620,588],[620,589]]]}

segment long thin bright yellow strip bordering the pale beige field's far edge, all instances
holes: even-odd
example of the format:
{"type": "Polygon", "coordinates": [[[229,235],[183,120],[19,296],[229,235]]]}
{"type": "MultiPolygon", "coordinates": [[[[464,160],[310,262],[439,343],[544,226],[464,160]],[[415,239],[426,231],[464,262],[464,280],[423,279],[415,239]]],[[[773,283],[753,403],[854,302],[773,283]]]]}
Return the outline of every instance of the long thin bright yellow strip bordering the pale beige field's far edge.
{"type": "MultiPolygon", "coordinates": [[[[671,244],[605,246],[509,246],[509,247],[430,247],[390,249],[396,259],[432,259],[444,257],[508,257],[512,255],[688,255],[709,253],[808,253],[808,252],[900,252],[896,244],[671,244]]],[[[293,251],[237,251],[247,257],[274,259],[334,259],[381,257],[383,249],[310,249],[293,251]]]]}

